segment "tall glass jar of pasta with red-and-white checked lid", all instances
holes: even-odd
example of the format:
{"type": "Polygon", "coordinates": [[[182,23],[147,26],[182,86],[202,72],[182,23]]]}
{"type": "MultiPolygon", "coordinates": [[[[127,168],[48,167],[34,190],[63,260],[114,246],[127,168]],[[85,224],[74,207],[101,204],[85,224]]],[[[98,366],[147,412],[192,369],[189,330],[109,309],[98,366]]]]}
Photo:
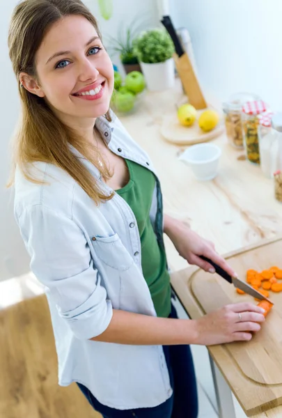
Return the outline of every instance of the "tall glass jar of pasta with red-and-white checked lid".
{"type": "Polygon", "coordinates": [[[258,144],[259,115],[267,110],[263,100],[246,102],[242,108],[243,140],[247,159],[253,164],[260,164],[260,150],[258,144]]]}

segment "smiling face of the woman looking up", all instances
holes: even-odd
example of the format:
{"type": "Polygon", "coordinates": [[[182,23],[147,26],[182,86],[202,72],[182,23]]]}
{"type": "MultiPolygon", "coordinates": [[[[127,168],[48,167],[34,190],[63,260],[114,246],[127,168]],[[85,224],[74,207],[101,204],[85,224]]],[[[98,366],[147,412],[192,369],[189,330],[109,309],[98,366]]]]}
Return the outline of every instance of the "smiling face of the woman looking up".
{"type": "Polygon", "coordinates": [[[81,15],[64,17],[47,32],[36,53],[40,88],[65,123],[97,118],[109,110],[113,65],[95,28],[81,15]]]}

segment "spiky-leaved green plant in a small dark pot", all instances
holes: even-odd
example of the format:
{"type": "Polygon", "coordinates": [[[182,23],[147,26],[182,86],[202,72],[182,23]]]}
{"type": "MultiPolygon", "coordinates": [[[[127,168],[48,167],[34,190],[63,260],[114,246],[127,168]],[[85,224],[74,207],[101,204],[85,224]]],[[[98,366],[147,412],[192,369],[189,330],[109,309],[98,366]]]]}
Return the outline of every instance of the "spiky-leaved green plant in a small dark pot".
{"type": "Polygon", "coordinates": [[[105,37],[107,45],[109,45],[107,48],[109,53],[112,55],[118,54],[126,74],[132,71],[142,72],[133,47],[133,40],[140,32],[139,27],[138,18],[136,18],[127,27],[124,24],[121,25],[116,37],[110,35],[105,37]]]}

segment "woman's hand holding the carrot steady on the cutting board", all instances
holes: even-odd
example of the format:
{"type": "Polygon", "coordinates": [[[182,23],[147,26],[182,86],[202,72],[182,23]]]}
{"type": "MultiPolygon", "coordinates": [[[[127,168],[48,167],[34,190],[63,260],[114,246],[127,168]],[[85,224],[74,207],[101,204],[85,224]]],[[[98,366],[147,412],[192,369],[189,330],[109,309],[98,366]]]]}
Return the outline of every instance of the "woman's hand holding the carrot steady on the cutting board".
{"type": "Polygon", "coordinates": [[[194,320],[196,344],[212,346],[232,341],[249,341],[265,321],[263,309],[252,303],[229,304],[194,320]]]}

